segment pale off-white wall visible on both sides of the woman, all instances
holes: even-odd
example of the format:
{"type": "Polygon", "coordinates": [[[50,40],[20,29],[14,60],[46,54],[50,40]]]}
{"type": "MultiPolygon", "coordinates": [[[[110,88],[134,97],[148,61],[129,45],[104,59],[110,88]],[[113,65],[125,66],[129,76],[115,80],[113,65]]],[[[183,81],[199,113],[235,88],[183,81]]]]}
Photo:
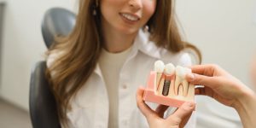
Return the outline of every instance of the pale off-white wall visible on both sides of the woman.
{"type": "MultiPolygon", "coordinates": [[[[177,0],[186,38],[201,49],[203,63],[218,63],[247,84],[247,66],[256,49],[253,5],[253,0],[177,0]]],[[[46,9],[54,6],[74,9],[75,2],[7,0],[0,95],[20,108],[28,109],[31,68],[44,58],[46,49],[41,20],[46,9]]]]}

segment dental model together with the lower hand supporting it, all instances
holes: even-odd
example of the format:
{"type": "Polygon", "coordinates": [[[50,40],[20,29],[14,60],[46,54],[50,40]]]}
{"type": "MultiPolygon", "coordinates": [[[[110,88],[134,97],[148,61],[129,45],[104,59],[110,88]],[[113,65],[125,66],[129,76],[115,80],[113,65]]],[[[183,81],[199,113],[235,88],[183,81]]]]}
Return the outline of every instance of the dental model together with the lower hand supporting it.
{"type": "Polygon", "coordinates": [[[187,67],[174,67],[172,63],[155,61],[154,71],[148,78],[146,89],[137,90],[137,107],[148,120],[150,128],[184,127],[195,110],[194,84],[189,84],[185,75],[191,73],[187,67]],[[152,110],[144,101],[160,104],[152,110]],[[178,108],[166,119],[163,118],[168,106],[178,108]]]}

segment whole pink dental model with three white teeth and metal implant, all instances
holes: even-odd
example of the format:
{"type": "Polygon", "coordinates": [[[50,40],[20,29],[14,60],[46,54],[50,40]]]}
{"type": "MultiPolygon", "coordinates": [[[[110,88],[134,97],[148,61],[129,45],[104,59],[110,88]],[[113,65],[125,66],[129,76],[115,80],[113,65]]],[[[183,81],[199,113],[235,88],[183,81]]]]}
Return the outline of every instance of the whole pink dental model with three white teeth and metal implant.
{"type": "Polygon", "coordinates": [[[195,85],[185,79],[187,73],[191,73],[191,69],[155,61],[154,71],[149,74],[143,100],[174,108],[179,108],[183,102],[194,102],[195,85]]]}

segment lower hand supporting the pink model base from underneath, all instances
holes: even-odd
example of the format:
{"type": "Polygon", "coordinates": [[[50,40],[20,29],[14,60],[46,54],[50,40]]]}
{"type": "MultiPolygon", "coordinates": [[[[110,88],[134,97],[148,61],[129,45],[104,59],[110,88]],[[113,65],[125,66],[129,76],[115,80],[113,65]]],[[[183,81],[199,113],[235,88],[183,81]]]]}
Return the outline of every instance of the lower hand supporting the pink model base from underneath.
{"type": "Polygon", "coordinates": [[[167,106],[160,105],[156,110],[152,110],[148,105],[143,102],[144,89],[137,90],[137,107],[141,110],[143,115],[148,120],[150,128],[179,128],[186,125],[189,117],[195,109],[195,103],[185,102],[177,109],[175,113],[172,113],[168,118],[163,119],[167,106]]]}

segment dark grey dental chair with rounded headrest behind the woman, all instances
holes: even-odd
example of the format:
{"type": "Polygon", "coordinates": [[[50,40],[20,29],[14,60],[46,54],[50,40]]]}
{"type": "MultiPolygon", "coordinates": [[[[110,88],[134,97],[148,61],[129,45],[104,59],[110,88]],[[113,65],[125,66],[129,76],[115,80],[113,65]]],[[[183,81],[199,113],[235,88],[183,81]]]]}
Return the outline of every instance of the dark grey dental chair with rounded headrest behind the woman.
{"type": "MultiPolygon", "coordinates": [[[[67,36],[75,25],[76,16],[67,9],[49,9],[42,22],[42,34],[47,48],[55,36],[67,36]]],[[[38,61],[32,68],[29,90],[29,110],[33,128],[60,128],[55,96],[45,76],[46,61],[38,61]]]]}

